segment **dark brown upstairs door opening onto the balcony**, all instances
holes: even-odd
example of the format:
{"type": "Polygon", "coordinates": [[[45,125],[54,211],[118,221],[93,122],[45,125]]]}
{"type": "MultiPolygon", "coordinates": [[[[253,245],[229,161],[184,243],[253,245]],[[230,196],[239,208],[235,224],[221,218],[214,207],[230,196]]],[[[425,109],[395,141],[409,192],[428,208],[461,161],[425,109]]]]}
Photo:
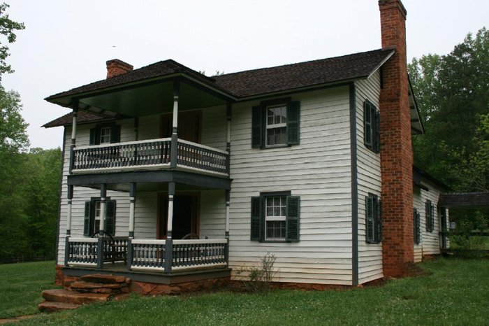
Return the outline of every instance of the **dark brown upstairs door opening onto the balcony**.
{"type": "MultiPolygon", "coordinates": [[[[172,134],[173,114],[161,115],[160,136],[169,138],[172,134]]],[[[200,143],[202,111],[183,111],[178,113],[177,134],[179,139],[200,143]]]]}

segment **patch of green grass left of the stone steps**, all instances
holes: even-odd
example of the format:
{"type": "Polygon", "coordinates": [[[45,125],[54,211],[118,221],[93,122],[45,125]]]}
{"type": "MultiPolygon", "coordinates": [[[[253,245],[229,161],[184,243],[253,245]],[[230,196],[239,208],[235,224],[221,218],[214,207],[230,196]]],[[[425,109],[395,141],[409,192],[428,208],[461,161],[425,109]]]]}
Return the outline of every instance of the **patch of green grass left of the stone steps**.
{"type": "Polygon", "coordinates": [[[0,318],[38,313],[41,292],[54,288],[54,261],[0,265],[0,318]]]}

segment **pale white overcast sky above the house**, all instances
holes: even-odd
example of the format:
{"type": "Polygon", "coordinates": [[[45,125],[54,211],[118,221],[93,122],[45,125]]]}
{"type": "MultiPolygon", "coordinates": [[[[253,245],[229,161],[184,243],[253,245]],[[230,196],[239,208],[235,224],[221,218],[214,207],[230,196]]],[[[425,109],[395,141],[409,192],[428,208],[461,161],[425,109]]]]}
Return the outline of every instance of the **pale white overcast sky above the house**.
{"type": "MultiPolygon", "coordinates": [[[[51,94],[101,80],[105,61],[134,68],[175,59],[191,69],[231,73],[381,47],[377,0],[6,0],[26,29],[10,45],[6,90],[20,92],[31,147],[55,148],[62,127],[45,122],[68,109],[51,94]]],[[[487,0],[404,0],[408,62],[444,55],[488,25],[487,0]]]]}

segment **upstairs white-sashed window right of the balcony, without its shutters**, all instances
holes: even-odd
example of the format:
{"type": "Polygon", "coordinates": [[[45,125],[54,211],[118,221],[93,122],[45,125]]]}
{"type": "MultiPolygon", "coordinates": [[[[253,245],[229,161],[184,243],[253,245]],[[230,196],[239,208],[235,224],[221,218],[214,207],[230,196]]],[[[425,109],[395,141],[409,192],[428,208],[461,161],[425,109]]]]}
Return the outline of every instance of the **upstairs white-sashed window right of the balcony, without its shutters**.
{"type": "Polygon", "coordinates": [[[267,106],[266,146],[286,145],[287,106],[267,106]]]}

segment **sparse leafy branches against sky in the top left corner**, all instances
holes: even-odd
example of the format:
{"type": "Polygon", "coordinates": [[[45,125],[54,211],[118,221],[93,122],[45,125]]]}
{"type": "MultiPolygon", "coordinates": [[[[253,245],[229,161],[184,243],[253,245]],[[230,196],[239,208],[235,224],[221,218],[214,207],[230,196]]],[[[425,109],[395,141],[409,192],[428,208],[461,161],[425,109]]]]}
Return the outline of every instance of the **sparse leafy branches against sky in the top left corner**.
{"type": "Polygon", "coordinates": [[[20,31],[25,28],[24,23],[10,20],[6,13],[8,7],[7,3],[0,4],[0,34],[6,38],[6,40],[3,39],[0,41],[0,80],[3,73],[13,73],[12,67],[6,62],[10,53],[8,52],[8,46],[5,45],[5,43],[6,41],[8,43],[15,42],[15,39],[17,38],[15,31],[20,31]]]}

